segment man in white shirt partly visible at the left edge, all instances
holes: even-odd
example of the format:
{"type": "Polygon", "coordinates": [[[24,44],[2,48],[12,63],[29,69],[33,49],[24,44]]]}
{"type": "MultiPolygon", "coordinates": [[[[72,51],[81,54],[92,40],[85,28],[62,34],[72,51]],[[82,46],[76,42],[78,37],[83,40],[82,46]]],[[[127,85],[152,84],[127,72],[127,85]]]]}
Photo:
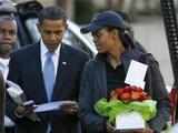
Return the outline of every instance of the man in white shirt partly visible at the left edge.
{"type": "MultiPolygon", "coordinates": [[[[14,50],[17,42],[17,22],[11,14],[0,16],[0,71],[4,81],[9,72],[10,53],[14,50]]],[[[7,95],[8,96],[8,95],[7,95]]],[[[14,123],[4,117],[6,133],[12,133],[14,123]]]]}

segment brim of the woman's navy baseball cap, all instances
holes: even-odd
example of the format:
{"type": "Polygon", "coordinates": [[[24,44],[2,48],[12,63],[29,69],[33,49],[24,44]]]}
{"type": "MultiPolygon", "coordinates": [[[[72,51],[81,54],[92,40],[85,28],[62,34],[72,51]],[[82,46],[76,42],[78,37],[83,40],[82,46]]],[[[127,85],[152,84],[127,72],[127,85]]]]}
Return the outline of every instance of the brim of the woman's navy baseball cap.
{"type": "Polygon", "coordinates": [[[81,29],[80,29],[80,32],[81,32],[81,33],[96,32],[96,31],[98,31],[99,29],[101,29],[101,27],[99,27],[99,25],[97,25],[97,24],[95,24],[95,23],[91,23],[91,24],[89,24],[89,25],[87,25],[87,27],[85,27],[85,28],[81,28],[81,29]]]}

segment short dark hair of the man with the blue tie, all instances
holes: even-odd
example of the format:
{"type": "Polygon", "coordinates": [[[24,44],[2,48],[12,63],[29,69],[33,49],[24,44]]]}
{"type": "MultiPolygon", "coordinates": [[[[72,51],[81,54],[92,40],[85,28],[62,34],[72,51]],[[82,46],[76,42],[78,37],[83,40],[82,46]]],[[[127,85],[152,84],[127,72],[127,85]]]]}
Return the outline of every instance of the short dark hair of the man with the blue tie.
{"type": "Polygon", "coordinates": [[[38,19],[39,19],[39,23],[41,24],[46,19],[50,19],[50,20],[62,19],[63,21],[66,21],[67,16],[63,9],[61,9],[60,7],[50,6],[50,7],[43,8],[40,11],[38,19]]]}

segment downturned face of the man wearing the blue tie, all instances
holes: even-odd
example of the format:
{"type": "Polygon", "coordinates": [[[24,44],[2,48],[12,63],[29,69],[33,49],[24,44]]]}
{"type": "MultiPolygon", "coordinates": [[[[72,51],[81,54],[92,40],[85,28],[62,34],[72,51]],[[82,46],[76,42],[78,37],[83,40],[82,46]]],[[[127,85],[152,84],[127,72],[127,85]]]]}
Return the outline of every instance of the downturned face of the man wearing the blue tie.
{"type": "Polygon", "coordinates": [[[61,43],[67,23],[62,20],[46,19],[38,25],[41,38],[49,51],[53,52],[61,43]]]}

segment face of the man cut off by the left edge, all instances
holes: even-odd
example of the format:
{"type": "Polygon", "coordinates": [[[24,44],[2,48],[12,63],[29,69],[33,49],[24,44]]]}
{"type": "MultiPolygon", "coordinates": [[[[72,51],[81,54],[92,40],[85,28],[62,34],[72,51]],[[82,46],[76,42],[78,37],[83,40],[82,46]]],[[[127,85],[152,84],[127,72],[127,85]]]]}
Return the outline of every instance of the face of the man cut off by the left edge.
{"type": "Polygon", "coordinates": [[[10,53],[17,41],[17,24],[13,20],[0,20],[0,54],[10,53]]]}

